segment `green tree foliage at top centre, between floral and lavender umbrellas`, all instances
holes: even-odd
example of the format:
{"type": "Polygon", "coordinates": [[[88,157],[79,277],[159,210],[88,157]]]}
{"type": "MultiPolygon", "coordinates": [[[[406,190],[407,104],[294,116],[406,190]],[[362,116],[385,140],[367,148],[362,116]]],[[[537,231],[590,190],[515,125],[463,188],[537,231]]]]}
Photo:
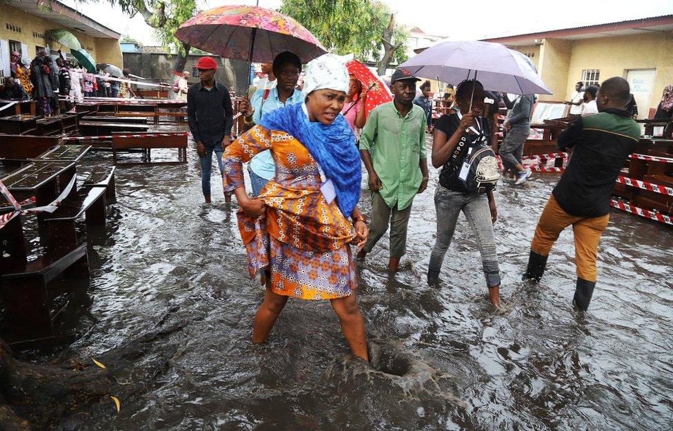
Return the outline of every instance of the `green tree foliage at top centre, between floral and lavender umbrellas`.
{"type": "MultiPolygon", "coordinates": [[[[375,0],[283,0],[280,12],[299,21],[328,50],[376,62],[381,59],[381,37],[392,13],[388,6],[375,0]]],[[[403,26],[394,26],[391,42],[401,46],[392,57],[393,63],[407,58],[408,35],[403,26]]]]}

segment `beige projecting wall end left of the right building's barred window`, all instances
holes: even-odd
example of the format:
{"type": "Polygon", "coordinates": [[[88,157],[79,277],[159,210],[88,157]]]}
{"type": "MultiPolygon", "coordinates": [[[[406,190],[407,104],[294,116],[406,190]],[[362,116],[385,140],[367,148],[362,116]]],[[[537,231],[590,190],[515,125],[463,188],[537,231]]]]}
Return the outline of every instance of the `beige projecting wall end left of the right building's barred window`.
{"type": "Polygon", "coordinates": [[[566,99],[571,54],[571,41],[564,39],[542,40],[540,58],[537,63],[538,73],[553,94],[541,94],[539,97],[541,101],[562,101],[566,99]]]}

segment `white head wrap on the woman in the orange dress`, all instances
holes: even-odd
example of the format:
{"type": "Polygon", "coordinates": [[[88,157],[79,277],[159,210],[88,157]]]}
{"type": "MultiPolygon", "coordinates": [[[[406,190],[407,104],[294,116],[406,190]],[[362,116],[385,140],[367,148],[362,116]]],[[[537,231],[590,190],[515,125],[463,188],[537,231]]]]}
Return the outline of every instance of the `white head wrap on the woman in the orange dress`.
{"type": "Polygon", "coordinates": [[[334,54],[323,54],[317,59],[308,62],[304,74],[304,86],[301,92],[301,98],[315,90],[337,90],[348,92],[348,69],[346,69],[346,59],[334,54]]]}

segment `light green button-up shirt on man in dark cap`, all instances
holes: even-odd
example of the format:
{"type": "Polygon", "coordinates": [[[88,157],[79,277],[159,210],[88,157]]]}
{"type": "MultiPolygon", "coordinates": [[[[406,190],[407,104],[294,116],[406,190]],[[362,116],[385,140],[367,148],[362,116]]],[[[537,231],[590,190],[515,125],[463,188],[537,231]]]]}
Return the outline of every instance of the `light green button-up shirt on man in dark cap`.
{"type": "Polygon", "coordinates": [[[370,112],[360,137],[360,149],[368,150],[383,189],[379,191],[390,208],[403,210],[411,205],[421,187],[419,161],[428,158],[425,148],[425,112],[419,106],[405,117],[393,102],[370,112]]]}

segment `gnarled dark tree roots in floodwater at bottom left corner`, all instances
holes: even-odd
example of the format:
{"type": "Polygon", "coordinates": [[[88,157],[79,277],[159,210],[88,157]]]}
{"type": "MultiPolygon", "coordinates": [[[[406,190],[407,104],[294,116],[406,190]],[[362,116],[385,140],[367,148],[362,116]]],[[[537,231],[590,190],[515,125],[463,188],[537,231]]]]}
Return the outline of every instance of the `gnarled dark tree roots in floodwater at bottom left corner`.
{"type": "Polygon", "coordinates": [[[116,408],[110,397],[117,397],[123,409],[170,368],[186,325],[165,323],[176,311],[168,310],[154,330],[100,354],[96,359],[105,369],[90,357],[22,362],[0,339],[0,430],[77,429],[86,417],[112,417],[116,408]]]}

